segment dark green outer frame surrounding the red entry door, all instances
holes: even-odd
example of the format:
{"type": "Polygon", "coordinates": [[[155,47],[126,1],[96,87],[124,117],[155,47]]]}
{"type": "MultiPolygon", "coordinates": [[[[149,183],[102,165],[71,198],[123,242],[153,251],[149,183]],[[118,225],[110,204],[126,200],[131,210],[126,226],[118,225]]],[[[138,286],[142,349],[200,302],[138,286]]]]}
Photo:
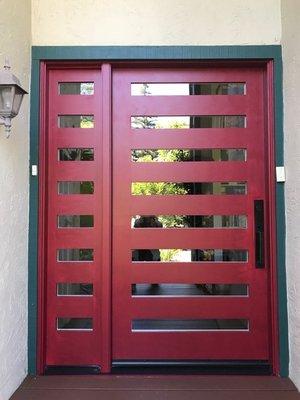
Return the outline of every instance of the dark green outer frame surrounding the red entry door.
{"type": "MultiPolygon", "coordinates": [[[[275,161],[283,165],[283,93],[281,46],[33,46],[31,70],[30,164],[39,161],[39,109],[41,61],[209,61],[273,60],[275,161]]],[[[37,371],[38,283],[38,179],[30,177],[29,279],[28,279],[28,373],[37,371]]],[[[277,280],[280,375],[288,376],[289,348],[285,270],[284,186],[276,184],[277,280]]]]}

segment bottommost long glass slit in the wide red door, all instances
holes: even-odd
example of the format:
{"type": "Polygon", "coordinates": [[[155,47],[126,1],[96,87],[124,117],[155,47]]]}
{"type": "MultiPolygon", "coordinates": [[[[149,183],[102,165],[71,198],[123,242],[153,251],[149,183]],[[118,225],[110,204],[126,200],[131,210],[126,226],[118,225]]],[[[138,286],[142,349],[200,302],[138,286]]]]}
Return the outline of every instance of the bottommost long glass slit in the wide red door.
{"type": "Polygon", "coordinates": [[[249,330],[247,319],[134,319],[133,332],[249,330]]]}

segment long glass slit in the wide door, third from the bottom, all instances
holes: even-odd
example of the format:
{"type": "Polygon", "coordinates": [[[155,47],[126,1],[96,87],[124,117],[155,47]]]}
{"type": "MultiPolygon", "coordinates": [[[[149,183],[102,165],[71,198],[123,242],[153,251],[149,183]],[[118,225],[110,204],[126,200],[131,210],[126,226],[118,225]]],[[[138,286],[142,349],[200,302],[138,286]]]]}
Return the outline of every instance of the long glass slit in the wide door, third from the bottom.
{"type": "Polygon", "coordinates": [[[134,249],[133,262],[247,262],[248,250],[134,249]]]}

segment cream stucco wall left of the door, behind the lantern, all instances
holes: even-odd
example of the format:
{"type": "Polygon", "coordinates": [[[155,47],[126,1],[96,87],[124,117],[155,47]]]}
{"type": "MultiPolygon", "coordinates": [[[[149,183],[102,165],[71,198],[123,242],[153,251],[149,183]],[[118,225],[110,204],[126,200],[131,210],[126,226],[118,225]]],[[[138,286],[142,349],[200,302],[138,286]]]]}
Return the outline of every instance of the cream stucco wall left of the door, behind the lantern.
{"type": "MultiPolygon", "coordinates": [[[[8,57],[29,88],[30,0],[0,0],[0,67],[8,57]]],[[[27,231],[29,101],[12,134],[0,127],[0,399],[6,400],[27,371],[27,231]]]]}

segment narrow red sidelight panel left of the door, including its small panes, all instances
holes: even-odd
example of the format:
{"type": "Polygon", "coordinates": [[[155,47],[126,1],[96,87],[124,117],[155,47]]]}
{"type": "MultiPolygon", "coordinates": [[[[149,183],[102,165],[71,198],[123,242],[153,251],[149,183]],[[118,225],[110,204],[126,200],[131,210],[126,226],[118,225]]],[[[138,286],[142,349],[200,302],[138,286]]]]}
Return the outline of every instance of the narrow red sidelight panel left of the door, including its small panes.
{"type": "Polygon", "coordinates": [[[48,72],[47,366],[106,363],[101,345],[105,257],[101,74],[96,67],[48,72]]]}

